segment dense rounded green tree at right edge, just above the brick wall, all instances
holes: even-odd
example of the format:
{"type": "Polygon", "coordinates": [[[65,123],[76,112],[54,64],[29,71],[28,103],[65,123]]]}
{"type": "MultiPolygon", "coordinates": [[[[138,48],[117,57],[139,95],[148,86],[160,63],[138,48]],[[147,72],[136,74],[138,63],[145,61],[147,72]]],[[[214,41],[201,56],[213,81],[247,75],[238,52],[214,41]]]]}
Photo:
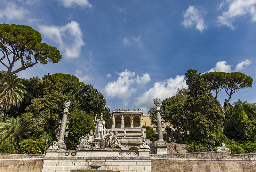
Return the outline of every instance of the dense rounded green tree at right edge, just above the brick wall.
{"type": "Polygon", "coordinates": [[[224,122],[224,133],[228,138],[256,141],[256,104],[240,100],[230,107],[224,122]]]}

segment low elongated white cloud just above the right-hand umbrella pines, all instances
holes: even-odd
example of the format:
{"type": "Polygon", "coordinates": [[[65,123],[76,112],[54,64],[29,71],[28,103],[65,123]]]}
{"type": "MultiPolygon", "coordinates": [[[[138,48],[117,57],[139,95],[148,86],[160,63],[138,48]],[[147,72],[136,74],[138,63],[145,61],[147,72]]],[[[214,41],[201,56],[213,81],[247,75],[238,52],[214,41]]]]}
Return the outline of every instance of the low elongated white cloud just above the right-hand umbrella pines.
{"type": "Polygon", "coordinates": [[[220,61],[217,62],[215,67],[210,69],[207,72],[214,72],[214,71],[220,71],[220,72],[236,72],[236,71],[241,71],[244,68],[246,68],[249,64],[252,62],[248,59],[244,60],[243,62],[240,62],[236,65],[236,69],[234,71],[231,70],[232,65],[228,65],[226,61],[220,61]]]}

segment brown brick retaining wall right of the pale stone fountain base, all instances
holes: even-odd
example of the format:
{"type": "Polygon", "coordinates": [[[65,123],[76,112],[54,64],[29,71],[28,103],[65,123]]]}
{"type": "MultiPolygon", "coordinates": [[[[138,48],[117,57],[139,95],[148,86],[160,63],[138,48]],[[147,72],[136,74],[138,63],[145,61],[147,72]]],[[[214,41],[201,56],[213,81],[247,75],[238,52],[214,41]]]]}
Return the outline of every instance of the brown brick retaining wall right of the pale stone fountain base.
{"type": "Polygon", "coordinates": [[[152,172],[256,171],[256,153],[231,155],[230,151],[224,151],[150,156],[152,172]],[[163,168],[159,168],[160,166],[163,168]]]}

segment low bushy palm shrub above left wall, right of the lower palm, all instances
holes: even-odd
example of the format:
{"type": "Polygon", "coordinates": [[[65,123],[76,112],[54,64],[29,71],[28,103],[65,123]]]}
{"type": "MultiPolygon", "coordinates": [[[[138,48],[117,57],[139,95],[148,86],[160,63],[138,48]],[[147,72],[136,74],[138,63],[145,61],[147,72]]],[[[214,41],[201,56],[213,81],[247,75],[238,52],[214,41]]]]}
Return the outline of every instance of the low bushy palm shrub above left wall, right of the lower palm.
{"type": "Polygon", "coordinates": [[[31,136],[20,142],[20,151],[22,154],[36,154],[43,151],[46,141],[39,136],[31,136]]]}

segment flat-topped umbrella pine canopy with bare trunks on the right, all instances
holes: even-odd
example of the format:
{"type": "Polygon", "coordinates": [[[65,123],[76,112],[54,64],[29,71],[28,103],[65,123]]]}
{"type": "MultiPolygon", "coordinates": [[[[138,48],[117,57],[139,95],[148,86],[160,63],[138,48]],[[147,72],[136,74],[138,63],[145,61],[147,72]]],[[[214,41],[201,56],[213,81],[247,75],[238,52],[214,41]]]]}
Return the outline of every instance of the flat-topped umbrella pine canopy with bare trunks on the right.
{"type": "Polygon", "coordinates": [[[221,113],[224,115],[224,110],[217,100],[217,95],[221,90],[225,90],[228,94],[228,99],[226,99],[226,105],[229,107],[228,102],[231,99],[233,93],[236,93],[240,89],[246,87],[252,87],[253,79],[249,76],[244,75],[240,72],[209,72],[202,75],[207,84],[209,92],[215,91],[215,96],[213,96],[214,101],[218,104],[221,113]]]}

